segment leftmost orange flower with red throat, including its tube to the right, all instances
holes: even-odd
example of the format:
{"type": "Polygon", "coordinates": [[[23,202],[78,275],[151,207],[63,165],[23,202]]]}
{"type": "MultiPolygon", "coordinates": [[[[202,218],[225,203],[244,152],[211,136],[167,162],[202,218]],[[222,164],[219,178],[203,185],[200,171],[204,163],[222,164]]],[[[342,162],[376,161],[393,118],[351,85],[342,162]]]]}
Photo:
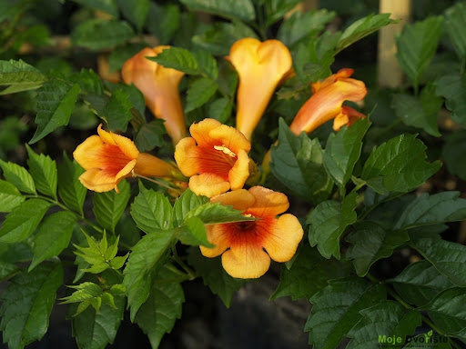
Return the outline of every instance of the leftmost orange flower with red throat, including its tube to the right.
{"type": "Polygon", "coordinates": [[[147,177],[174,178],[177,168],[157,156],[139,153],[136,145],[127,137],[106,132],[102,124],[98,135],[91,135],[76,147],[73,153],[76,162],[86,172],[79,181],[95,192],[118,191],[118,183],[126,177],[143,175],[147,177]]]}

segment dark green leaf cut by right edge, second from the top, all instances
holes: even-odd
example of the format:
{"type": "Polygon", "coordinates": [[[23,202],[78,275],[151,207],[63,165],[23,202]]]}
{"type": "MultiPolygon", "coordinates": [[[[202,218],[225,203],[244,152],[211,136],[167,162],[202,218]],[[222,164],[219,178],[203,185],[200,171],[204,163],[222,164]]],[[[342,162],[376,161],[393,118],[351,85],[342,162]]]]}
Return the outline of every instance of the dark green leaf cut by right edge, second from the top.
{"type": "Polygon", "coordinates": [[[466,126],[466,75],[443,75],[434,84],[437,86],[435,93],[445,98],[445,105],[451,111],[451,119],[466,126]]]}

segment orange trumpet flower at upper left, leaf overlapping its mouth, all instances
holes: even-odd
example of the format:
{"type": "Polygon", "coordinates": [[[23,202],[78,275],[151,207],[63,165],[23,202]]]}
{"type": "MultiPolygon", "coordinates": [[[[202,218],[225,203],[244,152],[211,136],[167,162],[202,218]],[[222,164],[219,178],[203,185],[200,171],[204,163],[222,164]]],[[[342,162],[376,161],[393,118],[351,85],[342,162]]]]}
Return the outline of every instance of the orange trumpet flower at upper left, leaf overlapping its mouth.
{"type": "Polygon", "coordinates": [[[155,57],[167,48],[169,46],[161,45],[142,49],[125,62],[121,75],[127,85],[134,84],[142,92],[152,114],[165,120],[167,134],[176,145],[187,135],[185,115],[178,90],[179,82],[185,74],[146,58],[155,57]]]}

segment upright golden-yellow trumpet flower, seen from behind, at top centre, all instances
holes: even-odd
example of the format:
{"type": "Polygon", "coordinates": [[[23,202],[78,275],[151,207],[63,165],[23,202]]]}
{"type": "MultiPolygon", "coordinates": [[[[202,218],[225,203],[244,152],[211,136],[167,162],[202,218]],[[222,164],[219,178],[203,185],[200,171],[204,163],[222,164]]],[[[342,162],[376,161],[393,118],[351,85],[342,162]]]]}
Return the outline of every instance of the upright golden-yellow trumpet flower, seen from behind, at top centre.
{"type": "Polygon", "coordinates": [[[237,128],[250,140],[275,89],[293,74],[291,54],[279,40],[247,37],[231,46],[227,59],[239,76],[237,128]]]}

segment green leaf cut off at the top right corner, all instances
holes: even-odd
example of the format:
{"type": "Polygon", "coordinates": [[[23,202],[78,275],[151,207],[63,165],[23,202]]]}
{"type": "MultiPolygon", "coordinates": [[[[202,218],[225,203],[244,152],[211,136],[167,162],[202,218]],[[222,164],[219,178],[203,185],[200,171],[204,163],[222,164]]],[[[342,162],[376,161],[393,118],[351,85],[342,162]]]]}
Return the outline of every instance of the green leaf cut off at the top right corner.
{"type": "Polygon", "coordinates": [[[466,57],[466,35],[462,28],[466,26],[466,5],[456,3],[445,11],[445,30],[460,60],[466,57]]]}

